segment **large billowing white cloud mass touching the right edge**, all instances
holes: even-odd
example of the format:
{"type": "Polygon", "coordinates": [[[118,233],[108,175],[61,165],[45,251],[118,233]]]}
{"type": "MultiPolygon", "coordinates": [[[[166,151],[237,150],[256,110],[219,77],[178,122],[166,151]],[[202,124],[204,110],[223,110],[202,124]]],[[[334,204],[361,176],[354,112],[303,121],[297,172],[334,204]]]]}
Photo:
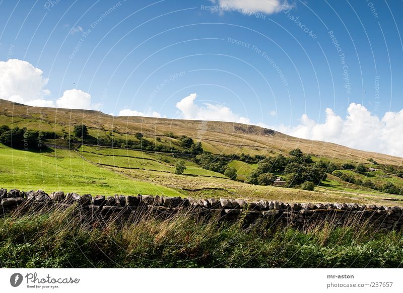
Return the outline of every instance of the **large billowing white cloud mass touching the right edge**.
{"type": "Polygon", "coordinates": [[[345,119],[326,109],[326,119],[316,123],[302,115],[295,127],[272,127],[292,136],[334,142],[350,148],[403,157],[403,110],[386,112],[382,118],[372,115],[361,104],[351,103],[345,119]]]}

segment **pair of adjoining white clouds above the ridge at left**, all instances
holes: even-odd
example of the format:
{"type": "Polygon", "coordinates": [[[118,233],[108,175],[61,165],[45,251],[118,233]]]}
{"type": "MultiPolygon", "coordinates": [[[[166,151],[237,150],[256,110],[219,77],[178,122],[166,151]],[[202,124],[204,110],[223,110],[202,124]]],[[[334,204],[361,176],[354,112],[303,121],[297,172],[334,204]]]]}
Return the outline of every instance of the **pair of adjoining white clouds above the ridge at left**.
{"type": "Polygon", "coordinates": [[[99,104],[91,102],[91,95],[81,90],[67,90],[56,100],[48,100],[48,79],[43,71],[27,61],[9,59],[0,61],[0,99],[38,107],[98,110],[99,104]]]}

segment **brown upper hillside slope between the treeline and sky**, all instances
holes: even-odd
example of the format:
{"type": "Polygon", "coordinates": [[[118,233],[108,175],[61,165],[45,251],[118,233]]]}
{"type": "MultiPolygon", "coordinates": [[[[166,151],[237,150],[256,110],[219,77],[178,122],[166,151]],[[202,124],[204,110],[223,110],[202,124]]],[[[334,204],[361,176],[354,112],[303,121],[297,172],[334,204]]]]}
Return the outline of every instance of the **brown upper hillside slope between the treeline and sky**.
{"type": "Polygon", "coordinates": [[[74,125],[84,123],[94,136],[104,135],[112,130],[121,135],[142,132],[148,137],[163,136],[172,132],[202,141],[204,149],[212,153],[268,155],[287,153],[300,148],[306,154],[314,154],[334,162],[368,163],[367,159],[373,158],[380,164],[401,166],[403,160],[354,150],[335,143],[297,138],[255,125],[138,116],[115,117],[100,111],[31,107],[0,99],[0,124],[11,123],[42,130],[63,129],[66,132],[70,132],[74,125]]]}

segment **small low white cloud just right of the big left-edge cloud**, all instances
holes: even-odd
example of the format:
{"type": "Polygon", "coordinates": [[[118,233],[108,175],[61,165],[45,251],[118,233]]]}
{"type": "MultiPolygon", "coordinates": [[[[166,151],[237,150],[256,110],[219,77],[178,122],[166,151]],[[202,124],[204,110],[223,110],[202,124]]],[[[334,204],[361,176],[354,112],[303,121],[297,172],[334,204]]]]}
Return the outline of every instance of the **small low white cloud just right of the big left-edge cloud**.
{"type": "Polygon", "coordinates": [[[99,104],[92,104],[91,95],[81,90],[64,91],[63,96],[56,101],[57,107],[68,109],[98,110],[99,104]]]}

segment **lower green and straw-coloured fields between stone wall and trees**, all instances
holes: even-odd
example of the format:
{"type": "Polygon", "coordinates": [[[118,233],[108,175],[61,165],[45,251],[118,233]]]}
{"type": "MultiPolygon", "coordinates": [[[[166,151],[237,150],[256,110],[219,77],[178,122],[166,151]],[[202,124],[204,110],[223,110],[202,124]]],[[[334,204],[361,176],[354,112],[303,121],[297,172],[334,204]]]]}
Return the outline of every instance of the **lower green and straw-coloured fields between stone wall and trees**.
{"type": "MultiPolygon", "coordinates": [[[[0,161],[0,183],[1,187],[8,189],[43,189],[48,192],[63,190],[92,195],[141,193],[195,198],[371,202],[385,205],[390,205],[390,201],[384,198],[396,198],[365,188],[360,190],[359,186],[343,183],[331,175],[331,180],[323,182],[323,186],[317,187],[316,191],[250,185],[229,180],[220,173],[197,167],[191,161],[186,161],[184,175],[176,175],[173,167],[176,159],[169,154],[95,146],[81,146],[78,151],[49,149],[48,152],[35,153],[0,145],[0,156],[3,159],[0,161]]],[[[230,166],[237,168],[243,176],[256,167],[240,161],[233,161],[230,166]]]]}

